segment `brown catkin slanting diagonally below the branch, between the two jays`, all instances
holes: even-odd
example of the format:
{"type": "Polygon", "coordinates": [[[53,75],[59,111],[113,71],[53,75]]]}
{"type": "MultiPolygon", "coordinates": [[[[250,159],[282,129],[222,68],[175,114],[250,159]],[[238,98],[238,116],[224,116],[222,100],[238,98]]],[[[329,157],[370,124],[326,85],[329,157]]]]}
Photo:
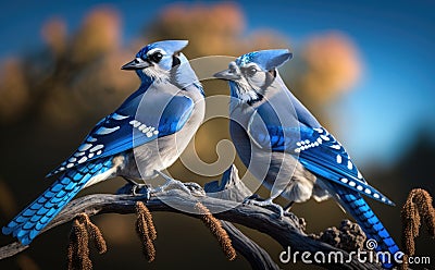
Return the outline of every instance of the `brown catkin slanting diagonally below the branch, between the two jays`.
{"type": "Polygon", "coordinates": [[[222,228],[222,223],[211,214],[210,210],[203,206],[201,202],[196,205],[196,208],[199,210],[199,214],[201,216],[202,222],[209,228],[210,232],[217,238],[219,244],[221,245],[226,258],[228,260],[234,260],[236,258],[236,250],[232,245],[232,241],[226,233],[226,231],[222,228]]]}

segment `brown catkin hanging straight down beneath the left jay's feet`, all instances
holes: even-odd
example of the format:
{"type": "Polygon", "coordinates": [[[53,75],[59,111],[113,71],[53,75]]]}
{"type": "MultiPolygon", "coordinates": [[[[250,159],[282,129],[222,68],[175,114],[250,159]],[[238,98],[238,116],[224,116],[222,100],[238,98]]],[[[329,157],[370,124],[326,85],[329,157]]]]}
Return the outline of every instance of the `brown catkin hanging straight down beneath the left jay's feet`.
{"type": "Polygon", "coordinates": [[[152,222],[152,217],[142,201],[136,202],[136,233],[142,244],[142,253],[149,262],[156,259],[156,248],[153,242],[157,238],[157,231],[152,222]]]}

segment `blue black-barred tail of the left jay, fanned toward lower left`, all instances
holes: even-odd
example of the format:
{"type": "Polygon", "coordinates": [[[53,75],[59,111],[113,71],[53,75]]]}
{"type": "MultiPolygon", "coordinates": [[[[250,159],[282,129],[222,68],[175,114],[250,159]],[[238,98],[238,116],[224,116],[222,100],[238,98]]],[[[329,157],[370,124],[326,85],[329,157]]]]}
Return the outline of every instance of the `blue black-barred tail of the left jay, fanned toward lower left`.
{"type": "Polygon", "coordinates": [[[92,176],[108,171],[111,167],[112,158],[107,158],[69,169],[41,196],[3,226],[3,234],[12,233],[23,245],[30,244],[92,176]]]}

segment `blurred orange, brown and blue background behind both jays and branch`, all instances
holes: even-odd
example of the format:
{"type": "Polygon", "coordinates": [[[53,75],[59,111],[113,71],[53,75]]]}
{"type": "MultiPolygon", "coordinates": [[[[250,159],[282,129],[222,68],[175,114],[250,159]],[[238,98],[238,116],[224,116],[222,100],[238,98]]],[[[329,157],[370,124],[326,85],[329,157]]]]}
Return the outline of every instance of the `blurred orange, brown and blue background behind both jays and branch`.
{"type": "MultiPolygon", "coordinates": [[[[184,52],[190,59],[289,48],[294,59],[281,69],[282,76],[347,147],[369,182],[397,204],[370,201],[397,242],[408,192],[423,187],[435,194],[433,1],[18,0],[2,1],[0,14],[0,225],[47,188],[53,180],[45,180],[46,173],[138,87],[136,75],[120,66],[144,45],[170,38],[189,39],[184,52]]],[[[208,96],[228,91],[224,82],[208,81],[204,87],[208,96]]],[[[199,156],[213,162],[223,138],[228,138],[226,120],[206,123],[195,142],[199,156]]],[[[181,162],[170,171],[183,181],[211,181],[181,162]]],[[[80,194],[113,193],[123,184],[115,180],[80,194]]],[[[294,211],[312,233],[347,217],[334,201],[309,201],[294,211]]],[[[109,246],[104,255],[92,254],[95,268],[249,268],[241,257],[227,261],[200,221],[153,217],[159,237],[152,263],[140,253],[134,217],[95,218],[109,246]]],[[[0,261],[0,268],[66,267],[70,228],[36,238],[26,251],[0,261]]],[[[282,248],[273,240],[241,230],[277,260],[282,248]]],[[[1,245],[10,242],[0,236],[1,245]]],[[[417,245],[418,255],[435,260],[434,242],[425,232],[417,245]]]]}

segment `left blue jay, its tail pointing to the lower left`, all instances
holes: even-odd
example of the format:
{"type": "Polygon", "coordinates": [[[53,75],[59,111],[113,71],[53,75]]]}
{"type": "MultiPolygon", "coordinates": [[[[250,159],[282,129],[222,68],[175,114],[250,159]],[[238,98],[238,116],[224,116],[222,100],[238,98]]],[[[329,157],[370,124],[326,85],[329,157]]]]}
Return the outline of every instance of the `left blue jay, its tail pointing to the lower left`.
{"type": "MultiPolygon", "coordinates": [[[[28,245],[83,188],[114,176],[134,183],[148,180],[175,162],[204,115],[202,87],[181,53],[187,42],[150,44],[122,66],[136,71],[141,81],[139,89],[102,119],[77,150],[47,175],[59,176],[2,229],[4,234],[12,233],[28,245]]],[[[159,191],[175,181],[162,176],[167,182],[159,191]]]]}

